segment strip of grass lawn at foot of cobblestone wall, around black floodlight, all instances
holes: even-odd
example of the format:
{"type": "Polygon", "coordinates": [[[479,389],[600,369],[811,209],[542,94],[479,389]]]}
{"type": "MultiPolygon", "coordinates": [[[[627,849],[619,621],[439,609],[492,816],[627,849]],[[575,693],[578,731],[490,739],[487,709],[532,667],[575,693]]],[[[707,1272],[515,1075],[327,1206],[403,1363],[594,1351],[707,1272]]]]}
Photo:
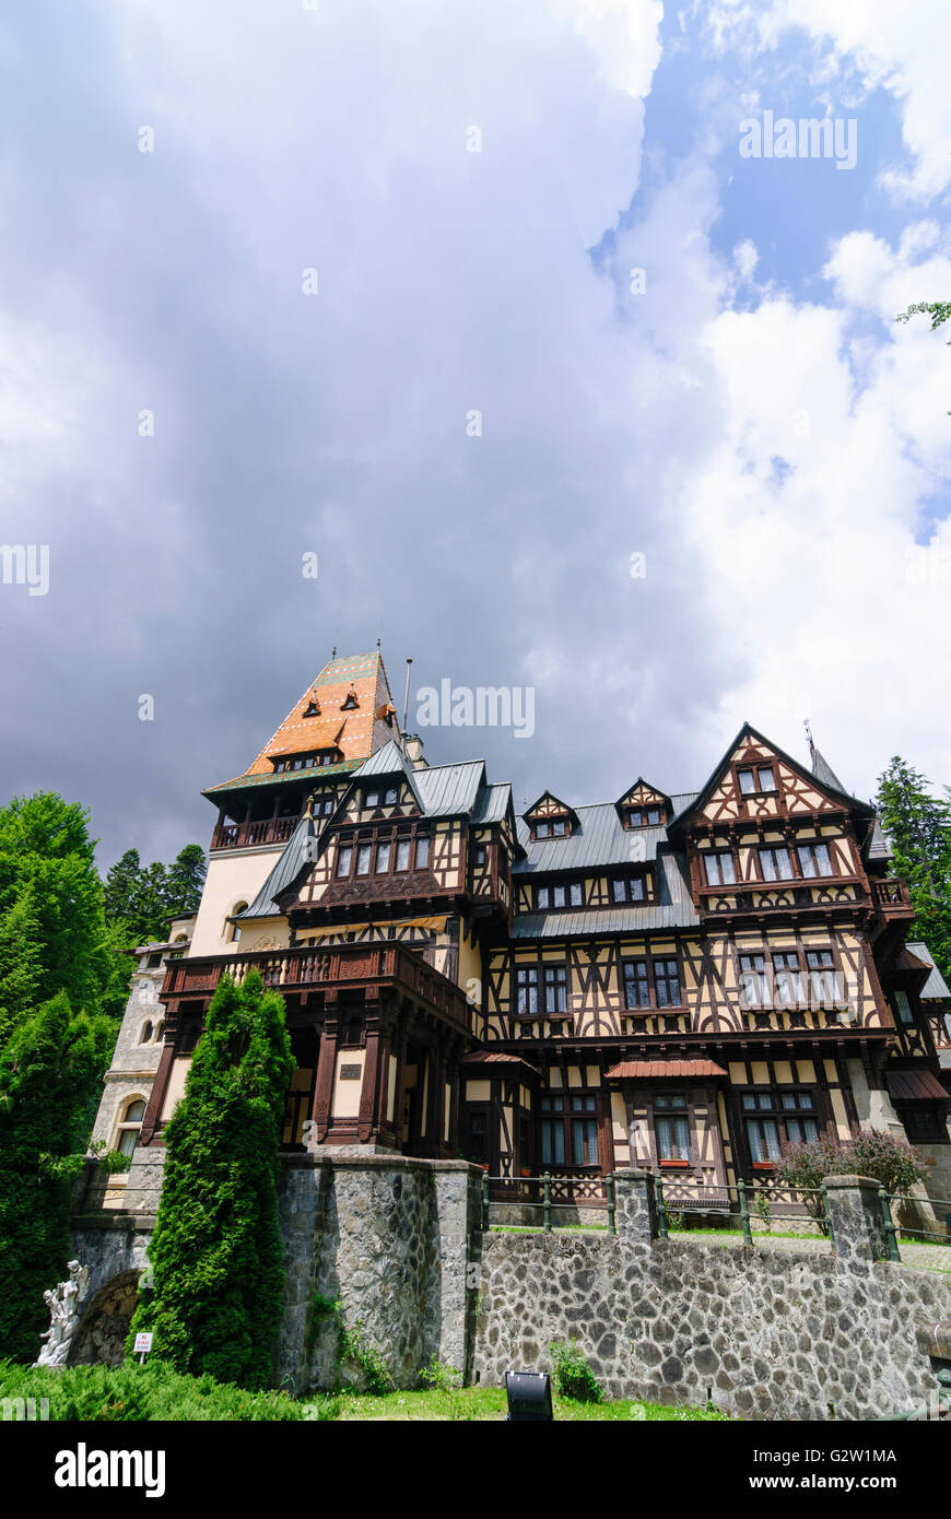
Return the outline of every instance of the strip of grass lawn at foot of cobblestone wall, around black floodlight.
{"type": "MultiPolygon", "coordinates": [[[[504,1419],[507,1410],[504,1387],[462,1387],[457,1391],[428,1388],[419,1393],[387,1393],[371,1397],[339,1393],[316,1397],[305,1405],[304,1417],[313,1419],[430,1419],[489,1420],[504,1419]]],[[[626,1420],[728,1420],[719,1408],[667,1408],[662,1404],[641,1404],[620,1399],[615,1404],[576,1404],[554,1394],[554,1417],[580,1422],[585,1419],[626,1420]]]]}

